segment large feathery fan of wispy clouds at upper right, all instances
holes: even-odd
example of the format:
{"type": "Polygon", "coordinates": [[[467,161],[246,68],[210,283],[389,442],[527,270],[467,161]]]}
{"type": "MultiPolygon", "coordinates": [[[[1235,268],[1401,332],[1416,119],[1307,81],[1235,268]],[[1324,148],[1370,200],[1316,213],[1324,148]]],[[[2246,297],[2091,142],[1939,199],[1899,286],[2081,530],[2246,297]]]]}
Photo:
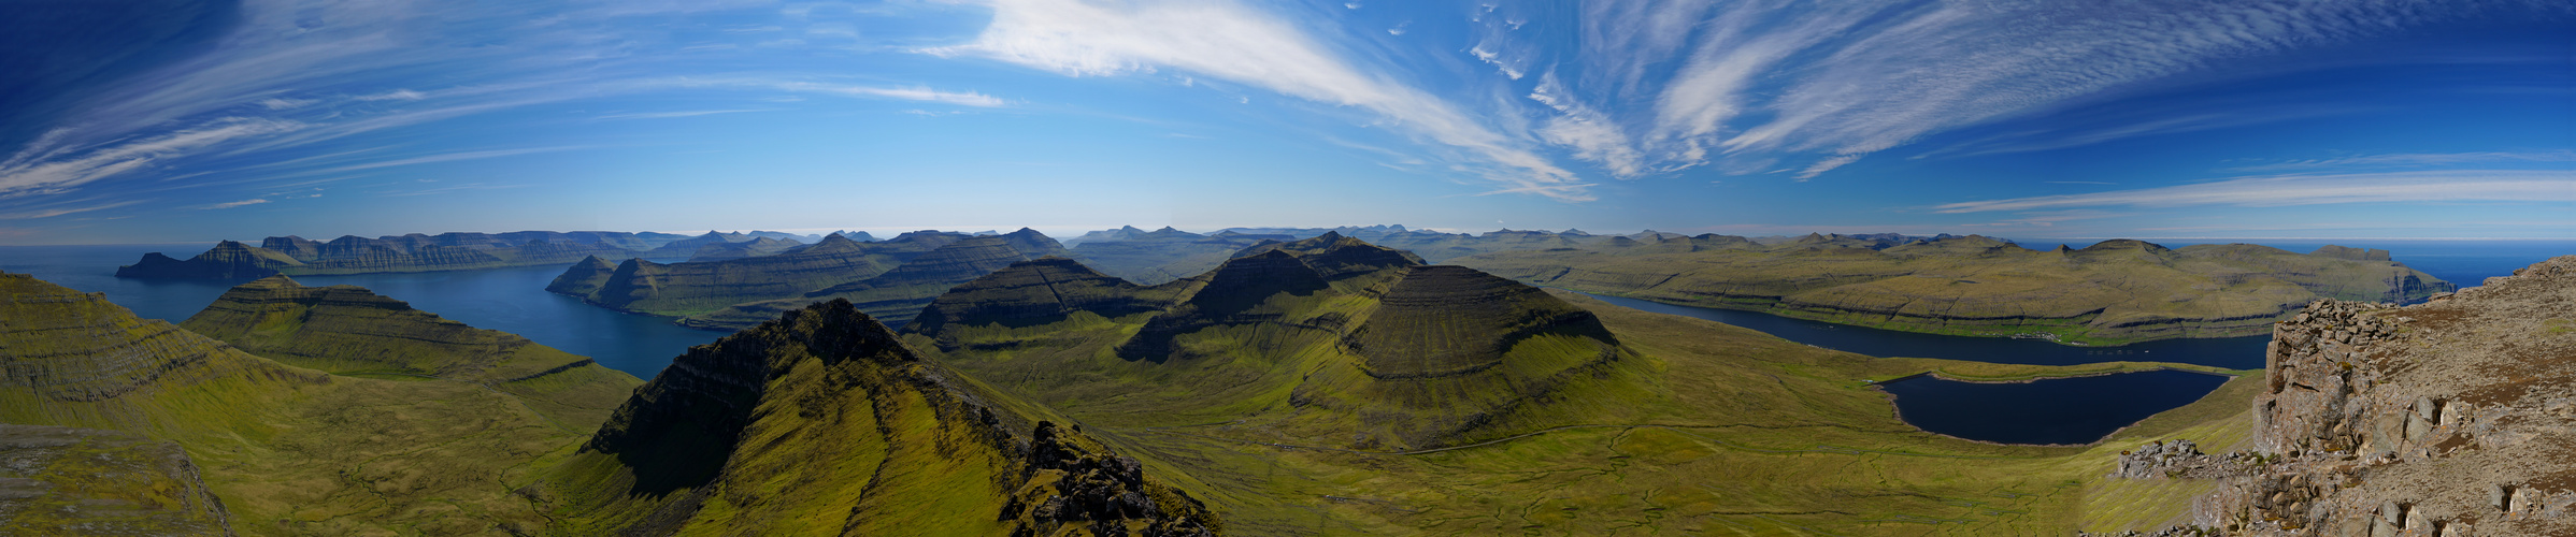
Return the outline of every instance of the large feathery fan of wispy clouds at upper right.
{"type": "MultiPolygon", "coordinates": [[[[2184,3],[1713,3],[1592,0],[1579,49],[1543,67],[1566,80],[1548,103],[1636,103],[1607,136],[1548,139],[1607,170],[1610,154],[1641,154],[1649,170],[1718,159],[1808,162],[1816,177],[1868,154],[1965,126],[2097,103],[2213,64],[2398,33],[2491,10],[2566,15],[2566,5],[2481,0],[2427,10],[2409,0],[2184,0],[2184,3]]],[[[1489,33],[1476,59],[1528,62],[1489,33]]],[[[1556,36],[1522,36],[1556,39],[1556,36]]],[[[2133,136],[2233,128],[2339,113],[2331,105],[2192,110],[2017,131],[1950,154],[2043,152],[2133,136]]],[[[1564,113],[1571,118],[1574,113],[1564,113]]]]}

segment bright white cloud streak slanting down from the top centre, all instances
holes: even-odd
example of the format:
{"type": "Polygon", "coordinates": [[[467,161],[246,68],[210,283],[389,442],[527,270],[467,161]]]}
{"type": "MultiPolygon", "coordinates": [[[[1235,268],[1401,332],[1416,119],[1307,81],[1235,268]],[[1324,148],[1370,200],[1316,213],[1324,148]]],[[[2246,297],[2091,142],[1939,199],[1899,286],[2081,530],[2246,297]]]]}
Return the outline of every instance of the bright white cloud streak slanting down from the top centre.
{"type": "Polygon", "coordinates": [[[1582,180],[1458,105],[1337,54],[1334,46],[1239,3],[984,0],[994,10],[974,41],[925,49],[984,57],[1072,77],[1182,69],[1291,98],[1352,105],[1404,134],[1453,146],[1463,167],[1504,193],[1589,200],[1582,180]]]}

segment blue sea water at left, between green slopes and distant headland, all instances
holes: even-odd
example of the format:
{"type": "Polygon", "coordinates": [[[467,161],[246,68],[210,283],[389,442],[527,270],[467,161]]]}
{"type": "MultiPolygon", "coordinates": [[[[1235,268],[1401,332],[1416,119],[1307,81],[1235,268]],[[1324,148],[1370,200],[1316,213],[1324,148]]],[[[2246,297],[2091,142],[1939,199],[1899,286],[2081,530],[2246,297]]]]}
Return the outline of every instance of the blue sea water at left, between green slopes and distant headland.
{"type": "MultiPolygon", "coordinates": [[[[0,270],[36,275],[75,290],[108,293],[137,316],[188,321],[234,283],[178,283],[116,277],[144,252],[193,257],[211,244],[106,244],[106,247],[0,247],[0,270]]],[[[618,313],[580,298],[546,293],[564,267],[451,270],[402,275],[304,275],[304,285],[358,285],[477,329],[497,329],[531,342],[585,355],[605,367],[652,378],[690,344],[729,331],[703,331],[670,319],[618,313]]]]}

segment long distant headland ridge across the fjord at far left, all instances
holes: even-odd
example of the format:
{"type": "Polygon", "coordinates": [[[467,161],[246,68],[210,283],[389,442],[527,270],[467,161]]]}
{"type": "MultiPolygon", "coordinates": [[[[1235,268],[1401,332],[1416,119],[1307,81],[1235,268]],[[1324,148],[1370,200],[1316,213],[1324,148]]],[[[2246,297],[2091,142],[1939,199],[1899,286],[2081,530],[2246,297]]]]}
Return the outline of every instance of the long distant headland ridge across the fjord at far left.
{"type": "Polygon", "coordinates": [[[160,280],[258,280],[268,275],[368,275],[368,272],[430,272],[430,270],[489,270],[562,265],[582,257],[636,257],[644,249],[677,242],[677,234],[623,234],[623,231],[510,231],[510,234],[404,234],[404,236],[340,236],[312,242],[304,236],[268,236],[260,247],[219,242],[191,260],[160,252],[118,267],[118,277],[160,280]]]}

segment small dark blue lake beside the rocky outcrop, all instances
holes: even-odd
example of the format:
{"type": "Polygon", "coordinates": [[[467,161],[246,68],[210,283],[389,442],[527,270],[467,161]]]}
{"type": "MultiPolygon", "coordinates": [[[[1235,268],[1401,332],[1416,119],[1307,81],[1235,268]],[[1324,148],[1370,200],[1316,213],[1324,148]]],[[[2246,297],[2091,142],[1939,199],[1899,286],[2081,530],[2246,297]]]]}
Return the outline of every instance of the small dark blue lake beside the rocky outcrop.
{"type": "Polygon", "coordinates": [[[2092,445],[2120,427],[2177,409],[2226,375],[2148,370],[2035,383],[1958,383],[1932,375],[1880,383],[1896,416],[1924,432],[2004,445],[2092,445]]]}

